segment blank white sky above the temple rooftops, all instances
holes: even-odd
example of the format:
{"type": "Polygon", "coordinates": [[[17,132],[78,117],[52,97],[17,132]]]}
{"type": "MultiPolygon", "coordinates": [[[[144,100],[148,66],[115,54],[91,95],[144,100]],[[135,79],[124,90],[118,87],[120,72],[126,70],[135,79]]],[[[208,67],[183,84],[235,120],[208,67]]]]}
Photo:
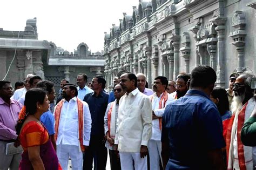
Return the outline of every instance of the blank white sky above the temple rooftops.
{"type": "Polygon", "coordinates": [[[37,17],[39,40],[73,51],[84,42],[92,52],[102,51],[104,32],[119,25],[123,12],[132,15],[139,0],[2,0],[0,28],[24,31],[26,20],[37,17]]]}

